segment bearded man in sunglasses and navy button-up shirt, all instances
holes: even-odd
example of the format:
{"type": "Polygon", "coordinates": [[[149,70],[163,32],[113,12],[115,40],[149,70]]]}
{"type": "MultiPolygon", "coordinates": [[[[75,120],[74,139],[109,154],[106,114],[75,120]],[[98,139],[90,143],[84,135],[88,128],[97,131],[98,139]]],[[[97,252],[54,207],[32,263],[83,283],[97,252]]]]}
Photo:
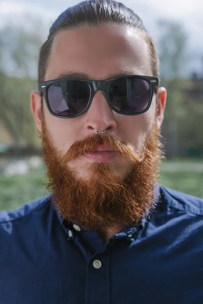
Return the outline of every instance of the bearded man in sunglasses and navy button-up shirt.
{"type": "Polygon", "coordinates": [[[52,195],[1,214],[2,304],[202,303],[202,201],[158,185],[166,90],[142,20],[61,14],[31,109],[52,195]]]}

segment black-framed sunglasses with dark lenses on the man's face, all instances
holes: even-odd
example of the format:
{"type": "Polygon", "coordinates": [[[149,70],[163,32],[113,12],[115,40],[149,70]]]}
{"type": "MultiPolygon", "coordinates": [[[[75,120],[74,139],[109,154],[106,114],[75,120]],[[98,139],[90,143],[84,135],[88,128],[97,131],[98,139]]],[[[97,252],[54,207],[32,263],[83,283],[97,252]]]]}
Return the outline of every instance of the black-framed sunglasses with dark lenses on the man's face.
{"type": "Polygon", "coordinates": [[[90,107],[97,90],[103,91],[112,110],[122,115],[140,115],[151,105],[158,78],[140,75],[88,81],[56,79],[38,84],[49,112],[59,118],[83,115],[90,107]]]}

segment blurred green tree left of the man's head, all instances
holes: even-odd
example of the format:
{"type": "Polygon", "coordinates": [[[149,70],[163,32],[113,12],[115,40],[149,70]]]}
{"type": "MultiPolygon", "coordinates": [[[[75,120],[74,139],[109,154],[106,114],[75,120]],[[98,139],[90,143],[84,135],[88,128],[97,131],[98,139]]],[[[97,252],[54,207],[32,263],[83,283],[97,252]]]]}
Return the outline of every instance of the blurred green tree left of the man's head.
{"type": "Polygon", "coordinates": [[[7,26],[0,31],[0,120],[14,139],[16,154],[22,144],[35,144],[29,94],[36,89],[37,58],[42,45],[40,22],[32,30],[7,26]]]}

